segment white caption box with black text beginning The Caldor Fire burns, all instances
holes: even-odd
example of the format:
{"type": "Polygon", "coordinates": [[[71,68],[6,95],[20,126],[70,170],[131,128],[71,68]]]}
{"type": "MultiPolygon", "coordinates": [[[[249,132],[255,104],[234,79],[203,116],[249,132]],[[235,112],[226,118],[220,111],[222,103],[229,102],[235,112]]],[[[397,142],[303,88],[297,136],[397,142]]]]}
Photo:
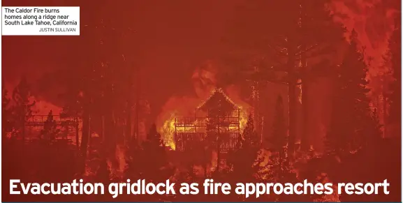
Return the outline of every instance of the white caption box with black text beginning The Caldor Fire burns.
{"type": "Polygon", "coordinates": [[[79,36],[80,7],[1,8],[3,36],[79,36]]]}

